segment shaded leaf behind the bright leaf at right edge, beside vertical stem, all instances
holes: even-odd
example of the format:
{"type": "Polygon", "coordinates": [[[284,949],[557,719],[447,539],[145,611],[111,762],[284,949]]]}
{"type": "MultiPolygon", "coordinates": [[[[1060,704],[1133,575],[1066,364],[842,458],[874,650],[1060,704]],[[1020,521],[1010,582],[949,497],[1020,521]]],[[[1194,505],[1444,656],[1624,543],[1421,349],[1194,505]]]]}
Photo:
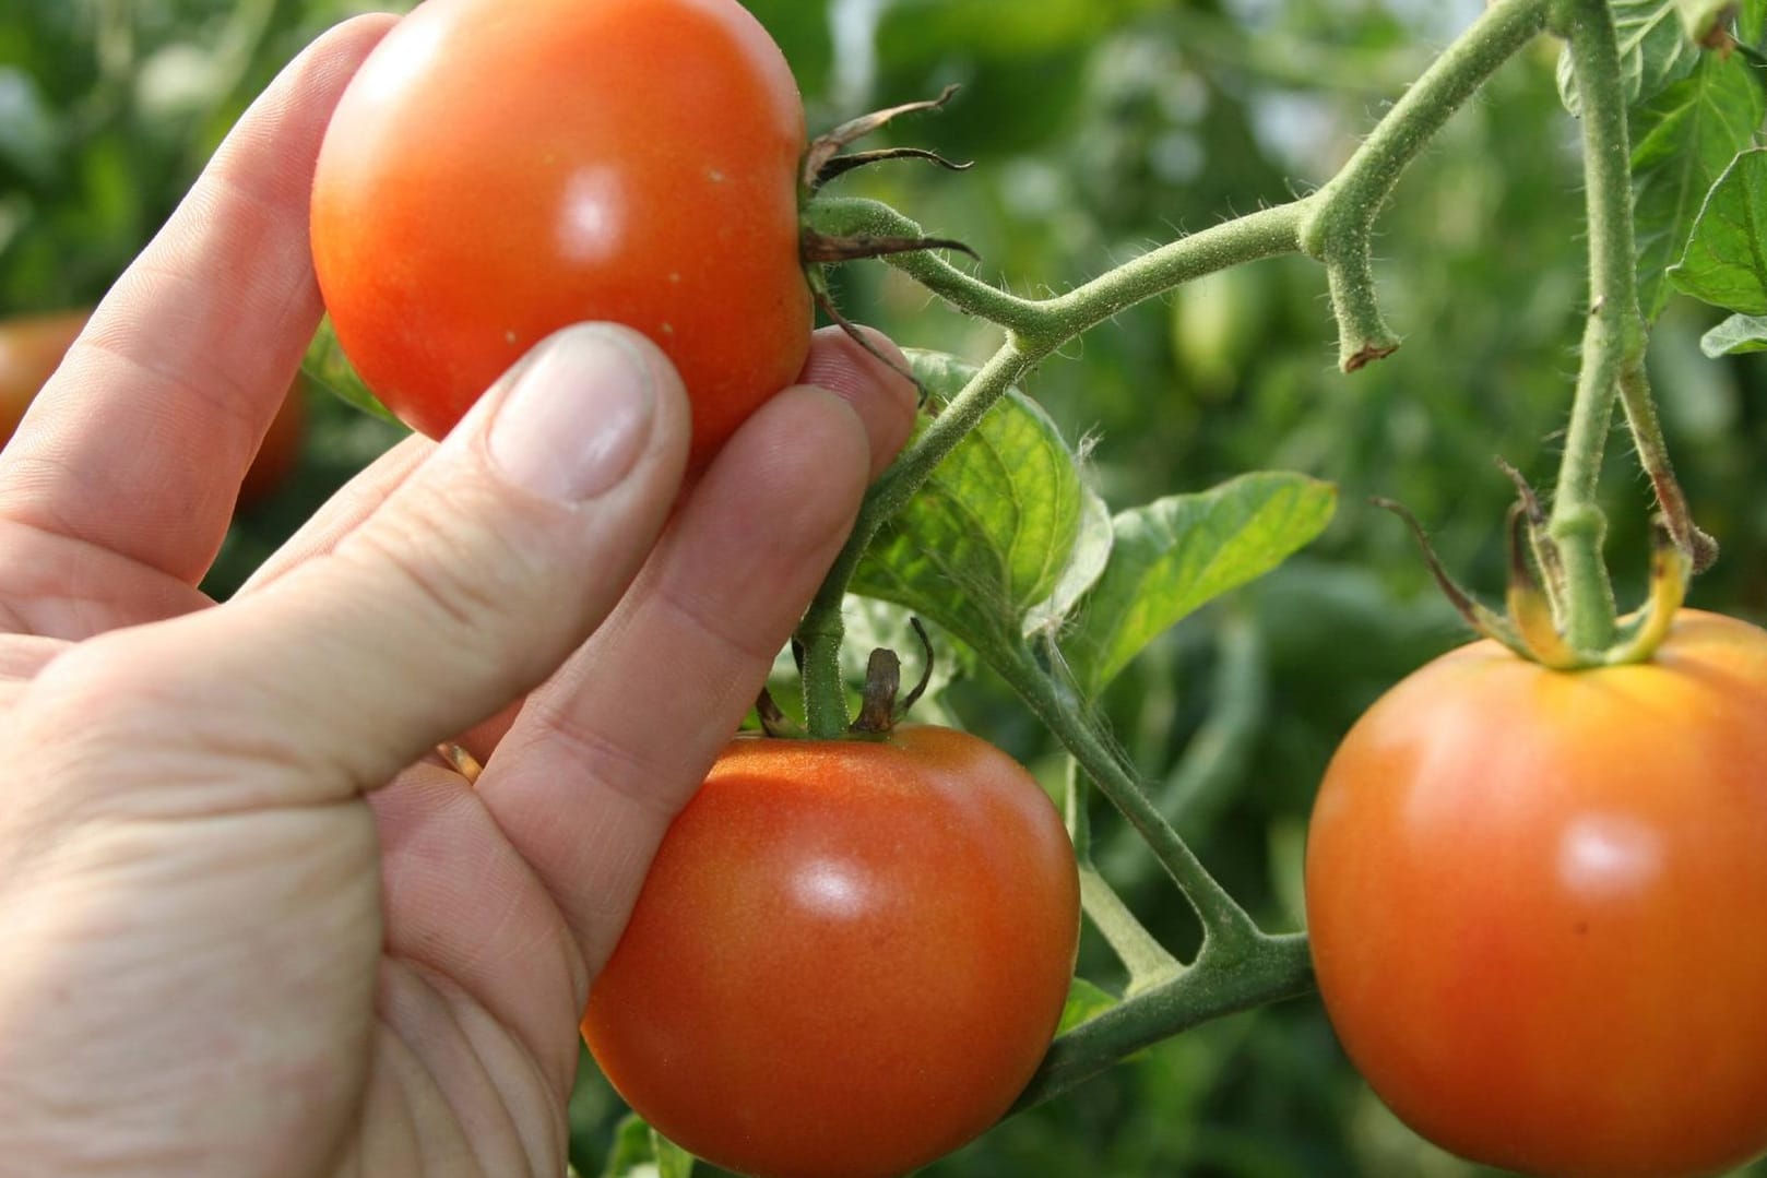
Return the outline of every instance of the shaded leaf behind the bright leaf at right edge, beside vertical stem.
{"type": "Polygon", "coordinates": [[[1633,189],[1638,221],[1638,302],[1654,320],[1672,293],[1707,193],[1749,147],[1767,97],[1737,55],[1707,57],[1686,79],[1633,111],[1633,189]]]}

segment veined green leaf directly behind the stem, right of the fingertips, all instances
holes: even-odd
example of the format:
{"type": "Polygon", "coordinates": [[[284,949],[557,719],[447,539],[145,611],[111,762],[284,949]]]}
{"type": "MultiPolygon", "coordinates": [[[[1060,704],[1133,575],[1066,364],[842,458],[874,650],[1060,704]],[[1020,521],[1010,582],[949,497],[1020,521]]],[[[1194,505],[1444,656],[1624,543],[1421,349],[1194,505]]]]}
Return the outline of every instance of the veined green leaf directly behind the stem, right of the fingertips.
{"type": "MultiPolygon", "coordinates": [[[[935,397],[975,371],[926,351],[908,362],[935,397]]],[[[1064,586],[1085,514],[1073,450],[1011,390],[884,526],[852,590],[908,606],[986,652],[1018,641],[1032,609],[1064,586]]]]}

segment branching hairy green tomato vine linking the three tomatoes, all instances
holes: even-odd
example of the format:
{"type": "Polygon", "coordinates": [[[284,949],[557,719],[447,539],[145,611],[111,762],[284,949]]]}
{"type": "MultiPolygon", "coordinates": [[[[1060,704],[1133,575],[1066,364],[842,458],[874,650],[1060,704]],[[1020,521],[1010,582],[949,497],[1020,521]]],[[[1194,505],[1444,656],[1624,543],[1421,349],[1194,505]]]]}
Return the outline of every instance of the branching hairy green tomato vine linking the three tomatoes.
{"type": "MultiPolygon", "coordinates": [[[[1004,341],[938,410],[899,461],[873,486],[853,535],[806,615],[804,692],[809,728],[834,735],[846,724],[839,673],[841,606],[869,546],[908,505],[940,463],[1037,364],[1119,311],[1205,274],[1270,258],[1306,254],[1325,270],[1346,373],[1399,346],[1376,298],[1371,237],[1401,173],[1484,81],[1541,34],[1567,42],[1580,95],[1587,168],[1592,302],[1571,436],[1544,537],[1562,556],[1564,585],[1551,585],[1553,625],[1578,659],[1597,662],[1619,638],[1613,592],[1601,560],[1604,517],[1596,500],[1603,443],[1619,399],[1650,475],[1668,530],[1695,565],[1714,546],[1691,521],[1672,473],[1643,373],[1645,320],[1638,306],[1631,208],[1627,94],[1615,16],[1606,0],[1497,0],[1394,102],[1338,175],[1311,194],[1177,238],[1074,290],[1050,298],[1002,291],[931,253],[905,253],[887,265],[935,291],[951,307],[988,320],[1004,341]]],[[[912,219],[869,200],[818,200],[811,224],[827,235],[924,237],[912,219]]],[[[1679,602],[1679,599],[1677,599],[1679,602]]],[[[1673,602],[1670,604],[1670,609],[1673,602]]],[[[1088,862],[1076,839],[1088,918],[1129,970],[1124,1000],[1062,1035],[1021,1099],[1050,1099],[1126,1054],[1209,1017],[1306,991],[1311,985],[1304,934],[1262,931],[1209,874],[1152,804],[1134,768],[1099,728],[1092,701],[1066,675],[1058,639],[1034,643],[1014,627],[965,632],[1023,703],[1073,756],[1074,789],[1090,782],[1129,821],[1189,901],[1203,943],[1179,963],[1140,927],[1088,862]]],[[[1629,657],[1647,655],[1636,643],[1629,657]]],[[[1083,811],[1071,805],[1073,811],[1083,811]]]]}

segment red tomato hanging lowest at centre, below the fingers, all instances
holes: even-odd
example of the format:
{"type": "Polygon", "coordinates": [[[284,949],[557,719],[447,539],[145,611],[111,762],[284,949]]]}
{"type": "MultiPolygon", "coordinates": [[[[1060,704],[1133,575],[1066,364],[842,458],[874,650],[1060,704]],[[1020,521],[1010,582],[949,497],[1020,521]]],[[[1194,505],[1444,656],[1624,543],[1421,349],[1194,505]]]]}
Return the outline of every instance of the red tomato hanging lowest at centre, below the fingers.
{"type": "Polygon", "coordinates": [[[726,1169],[899,1174],[1023,1090],[1078,936],[1067,832],[993,745],[744,736],[670,828],[583,1035],[726,1169]]]}

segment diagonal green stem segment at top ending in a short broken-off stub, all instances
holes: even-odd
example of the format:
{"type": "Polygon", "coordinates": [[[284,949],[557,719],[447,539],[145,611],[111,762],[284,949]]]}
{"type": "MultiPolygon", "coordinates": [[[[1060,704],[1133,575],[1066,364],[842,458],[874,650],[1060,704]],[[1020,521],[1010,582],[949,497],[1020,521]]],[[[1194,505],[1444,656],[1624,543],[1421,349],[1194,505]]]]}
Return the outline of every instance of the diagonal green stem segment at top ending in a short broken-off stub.
{"type": "Polygon", "coordinates": [[[1546,26],[1546,0],[1497,0],[1405,92],[1355,155],[1315,193],[1302,249],[1325,265],[1338,359],[1348,373],[1399,346],[1375,302],[1369,238],[1399,173],[1467,99],[1546,26]]]}

